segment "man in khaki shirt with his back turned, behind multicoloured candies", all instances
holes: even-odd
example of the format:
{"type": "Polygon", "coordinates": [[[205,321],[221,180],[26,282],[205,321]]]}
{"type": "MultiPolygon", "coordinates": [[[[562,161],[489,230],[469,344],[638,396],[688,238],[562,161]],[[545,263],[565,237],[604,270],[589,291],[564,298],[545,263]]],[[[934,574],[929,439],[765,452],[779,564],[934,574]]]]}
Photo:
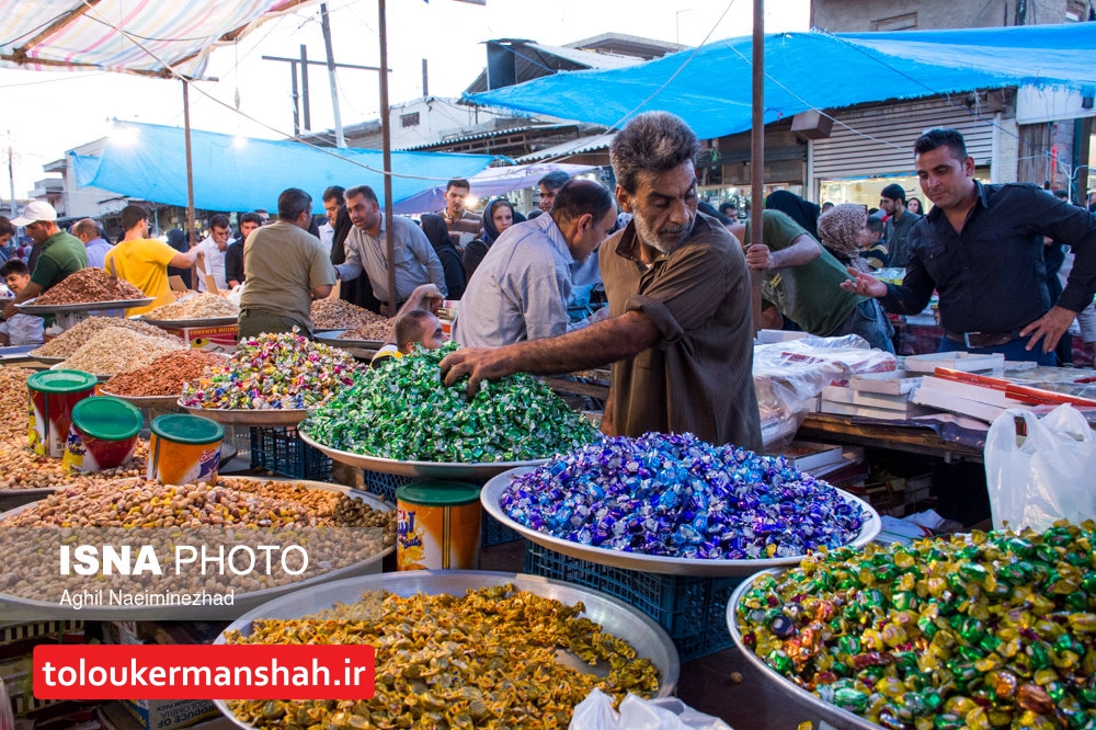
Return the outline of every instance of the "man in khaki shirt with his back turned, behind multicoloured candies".
{"type": "Polygon", "coordinates": [[[248,285],[240,296],[239,339],[262,332],[312,335],[312,299],[331,294],[334,266],[320,239],[308,232],[312,196],[299,187],[277,198],[277,221],[255,229],[243,250],[248,285]]]}

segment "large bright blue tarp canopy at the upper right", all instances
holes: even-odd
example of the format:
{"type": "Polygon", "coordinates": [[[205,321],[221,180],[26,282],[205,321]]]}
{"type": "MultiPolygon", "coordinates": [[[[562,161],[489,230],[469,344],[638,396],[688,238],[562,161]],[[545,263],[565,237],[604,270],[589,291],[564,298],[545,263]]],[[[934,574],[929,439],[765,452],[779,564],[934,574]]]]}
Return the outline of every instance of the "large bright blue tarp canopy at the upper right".
{"type": "MultiPolygon", "coordinates": [[[[612,70],[556,73],[468,94],[477,104],[618,128],[670,111],[700,138],[750,129],[752,38],[612,70]]],[[[1096,23],[956,31],[765,36],[765,123],[809,109],[1039,85],[1096,88],[1096,23]]]]}

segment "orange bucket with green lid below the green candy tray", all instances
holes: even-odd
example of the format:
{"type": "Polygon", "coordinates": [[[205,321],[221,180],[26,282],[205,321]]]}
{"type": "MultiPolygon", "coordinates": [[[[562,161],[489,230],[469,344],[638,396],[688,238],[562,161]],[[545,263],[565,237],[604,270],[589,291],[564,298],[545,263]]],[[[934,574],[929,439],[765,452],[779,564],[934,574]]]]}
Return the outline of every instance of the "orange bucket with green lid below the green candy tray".
{"type": "Polygon", "coordinates": [[[416,481],[396,490],[397,570],[479,569],[479,487],[416,481]]]}

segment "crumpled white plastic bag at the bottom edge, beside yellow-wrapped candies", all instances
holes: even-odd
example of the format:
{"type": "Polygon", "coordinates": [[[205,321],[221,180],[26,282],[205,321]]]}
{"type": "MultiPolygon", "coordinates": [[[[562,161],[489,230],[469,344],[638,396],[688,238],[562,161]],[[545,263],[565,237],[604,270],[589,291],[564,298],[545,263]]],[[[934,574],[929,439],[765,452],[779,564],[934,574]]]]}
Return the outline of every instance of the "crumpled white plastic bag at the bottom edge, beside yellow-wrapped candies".
{"type": "Polygon", "coordinates": [[[574,708],[570,730],[731,730],[731,726],[697,712],[676,697],[642,699],[628,695],[617,712],[612,697],[593,689],[574,708]]]}

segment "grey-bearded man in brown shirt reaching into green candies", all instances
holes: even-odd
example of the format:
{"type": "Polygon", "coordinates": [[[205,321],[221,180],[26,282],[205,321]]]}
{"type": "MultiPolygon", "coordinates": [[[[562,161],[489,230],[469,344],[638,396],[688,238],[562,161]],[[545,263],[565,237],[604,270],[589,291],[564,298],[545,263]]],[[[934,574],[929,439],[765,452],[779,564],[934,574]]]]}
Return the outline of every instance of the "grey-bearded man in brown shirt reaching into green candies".
{"type": "Polygon", "coordinates": [[[650,112],[613,140],[616,197],[632,214],[602,249],[610,318],[556,338],[469,347],[442,361],[447,385],[516,372],[549,375],[613,364],[602,430],[692,432],[762,447],[753,385],[750,273],[742,247],[697,215],[700,146],[680,117],[650,112]]]}

